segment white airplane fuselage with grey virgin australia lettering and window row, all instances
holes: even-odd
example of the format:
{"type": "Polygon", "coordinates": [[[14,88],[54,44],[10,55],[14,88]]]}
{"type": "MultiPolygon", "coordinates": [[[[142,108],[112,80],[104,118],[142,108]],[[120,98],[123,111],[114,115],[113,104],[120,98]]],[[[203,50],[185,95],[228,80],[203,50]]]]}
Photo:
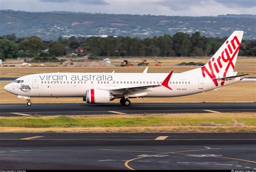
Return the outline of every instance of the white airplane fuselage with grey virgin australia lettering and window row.
{"type": "MultiPolygon", "coordinates": [[[[116,90],[119,88],[159,85],[168,73],[41,73],[18,78],[22,83],[12,82],[5,90],[24,97],[85,97],[86,90],[116,90]],[[26,89],[29,86],[29,89],[26,89]]],[[[239,81],[233,78],[225,85],[239,81]]],[[[220,81],[219,81],[220,83],[220,81]]],[[[210,91],[215,86],[211,79],[196,74],[173,73],[166,87],[147,88],[143,97],[178,97],[210,91]]]]}

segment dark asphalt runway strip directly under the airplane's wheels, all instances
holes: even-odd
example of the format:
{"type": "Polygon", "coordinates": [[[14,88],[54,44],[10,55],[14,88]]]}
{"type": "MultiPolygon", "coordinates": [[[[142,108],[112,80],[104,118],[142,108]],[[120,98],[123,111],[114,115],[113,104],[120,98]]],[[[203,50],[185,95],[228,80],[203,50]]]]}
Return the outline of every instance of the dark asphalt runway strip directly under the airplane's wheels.
{"type": "Polygon", "coordinates": [[[0,116],[256,112],[255,103],[0,104],[0,116]]]}

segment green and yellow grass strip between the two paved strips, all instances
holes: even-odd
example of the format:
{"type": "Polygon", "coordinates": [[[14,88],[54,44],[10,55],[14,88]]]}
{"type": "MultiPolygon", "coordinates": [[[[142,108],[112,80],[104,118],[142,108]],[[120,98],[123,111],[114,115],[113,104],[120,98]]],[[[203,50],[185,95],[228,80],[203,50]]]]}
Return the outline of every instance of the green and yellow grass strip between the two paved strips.
{"type": "Polygon", "coordinates": [[[159,126],[201,126],[202,123],[222,123],[233,126],[233,120],[245,126],[255,126],[254,115],[144,115],[108,117],[26,117],[0,118],[0,127],[159,127],[159,126]]]}

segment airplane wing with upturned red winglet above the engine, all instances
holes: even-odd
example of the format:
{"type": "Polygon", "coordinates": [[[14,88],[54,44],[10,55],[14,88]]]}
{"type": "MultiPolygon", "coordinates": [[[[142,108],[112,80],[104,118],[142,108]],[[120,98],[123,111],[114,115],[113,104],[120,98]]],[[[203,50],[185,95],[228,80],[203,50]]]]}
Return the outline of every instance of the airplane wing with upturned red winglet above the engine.
{"type": "Polygon", "coordinates": [[[155,88],[155,87],[161,87],[164,86],[166,88],[168,88],[169,90],[172,90],[172,88],[170,88],[168,86],[169,80],[172,76],[173,71],[171,71],[167,77],[165,78],[165,80],[163,82],[161,82],[161,84],[158,85],[147,85],[147,86],[138,86],[138,87],[124,87],[124,88],[118,88],[118,89],[112,89],[109,90],[113,95],[130,95],[128,97],[133,97],[132,95],[134,95],[134,97],[143,97],[145,95],[147,95],[146,92],[151,92],[150,88],[155,88]]]}

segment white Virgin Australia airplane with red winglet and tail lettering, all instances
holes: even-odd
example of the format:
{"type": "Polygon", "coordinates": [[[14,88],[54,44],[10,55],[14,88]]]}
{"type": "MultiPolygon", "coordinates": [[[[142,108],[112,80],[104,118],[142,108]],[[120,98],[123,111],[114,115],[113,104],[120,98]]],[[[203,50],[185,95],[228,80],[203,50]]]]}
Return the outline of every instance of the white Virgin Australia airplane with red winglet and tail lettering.
{"type": "Polygon", "coordinates": [[[25,75],[4,87],[26,99],[33,97],[81,97],[88,104],[120,99],[130,106],[132,98],[179,97],[216,90],[244,78],[234,72],[244,32],[234,31],[204,66],[182,73],[39,73],[25,75]]]}

